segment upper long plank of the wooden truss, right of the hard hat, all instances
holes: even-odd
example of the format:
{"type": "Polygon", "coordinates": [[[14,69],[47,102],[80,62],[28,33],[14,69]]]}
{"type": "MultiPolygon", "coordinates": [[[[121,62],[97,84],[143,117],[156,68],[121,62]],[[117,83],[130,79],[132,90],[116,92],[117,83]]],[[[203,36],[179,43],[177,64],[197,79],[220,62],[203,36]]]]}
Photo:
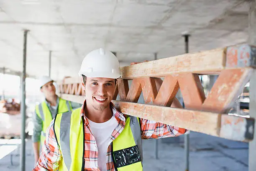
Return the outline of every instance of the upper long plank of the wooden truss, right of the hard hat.
{"type": "Polygon", "coordinates": [[[165,77],[170,74],[218,74],[223,69],[256,67],[256,47],[238,45],[184,54],[121,68],[123,79],[165,77]]]}

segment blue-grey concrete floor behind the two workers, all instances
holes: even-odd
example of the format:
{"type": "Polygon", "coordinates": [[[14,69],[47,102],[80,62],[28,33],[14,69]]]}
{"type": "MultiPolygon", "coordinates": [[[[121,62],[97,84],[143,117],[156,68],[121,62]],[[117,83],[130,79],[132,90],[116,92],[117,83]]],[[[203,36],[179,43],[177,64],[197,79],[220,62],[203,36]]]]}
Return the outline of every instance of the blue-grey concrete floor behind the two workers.
{"type": "MultiPolygon", "coordinates": [[[[143,140],[144,171],[184,171],[183,141],[184,136],[143,140]],[[156,159],[156,141],[159,141],[159,159],[156,159]]],[[[19,143],[17,139],[0,139],[0,171],[20,170],[19,143]]],[[[32,141],[27,139],[26,171],[32,170],[33,159],[32,141]]],[[[191,132],[189,171],[248,171],[248,143],[191,132]]]]}

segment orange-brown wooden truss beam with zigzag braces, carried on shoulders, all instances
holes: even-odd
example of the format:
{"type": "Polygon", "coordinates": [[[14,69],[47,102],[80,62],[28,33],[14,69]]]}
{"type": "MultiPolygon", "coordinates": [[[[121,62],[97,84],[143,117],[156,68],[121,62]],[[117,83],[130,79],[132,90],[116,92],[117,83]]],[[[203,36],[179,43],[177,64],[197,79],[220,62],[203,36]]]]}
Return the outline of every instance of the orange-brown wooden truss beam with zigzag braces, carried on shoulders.
{"type": "MultiPolygon", "coordinates": [[[[253,139],[254,119],[227,112],[256,67],[256,47],[241,45],[122,67],[113,103],[124,114],[236,141],[253,139]],[[198,74],[219,74],[205,97],[198,74]],[[153,77],[164,77],[157,91],[153,77]],[[128,86],[128,79],[133,79],[128,86]],[[181,90],[185,109],[175,98],[181,90]],[[140,94],[145,104],[138,104],[140,94]],[[116,97],[120,101],[116,101],[116,97]],[[171,107],[172,103],[179,108],[171,107]]],[[[82,103],[80,78],[58,82],[61,97],[82,103]]]]}

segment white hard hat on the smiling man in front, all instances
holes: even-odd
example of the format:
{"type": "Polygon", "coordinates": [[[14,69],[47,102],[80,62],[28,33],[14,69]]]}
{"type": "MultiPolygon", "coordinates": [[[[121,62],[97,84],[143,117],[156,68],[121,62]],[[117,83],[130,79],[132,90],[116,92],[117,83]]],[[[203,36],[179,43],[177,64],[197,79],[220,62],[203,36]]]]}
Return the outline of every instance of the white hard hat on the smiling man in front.
{"type": "Polygon", "coordinates": [[[117,57],[103,48],[93,50],[84,57],[79,76],[117,79],[121,76],[117,57]]]}

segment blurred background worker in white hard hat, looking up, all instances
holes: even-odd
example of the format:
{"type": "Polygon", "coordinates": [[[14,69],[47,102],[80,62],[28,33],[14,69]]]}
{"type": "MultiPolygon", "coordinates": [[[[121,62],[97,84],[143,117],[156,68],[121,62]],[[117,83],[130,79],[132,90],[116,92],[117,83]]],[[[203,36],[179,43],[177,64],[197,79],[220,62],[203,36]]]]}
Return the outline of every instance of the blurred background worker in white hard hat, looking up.
{"type": "Polygon", "coordinates": [[[46,129],[50,125],[51,120],[57,113],[72,111],[81,107],[82,104],[69,102],[59,98],[56,95],[54,81],[50,77],[42,76],[39,79],[40,91],[44,94],[45,100],[36,105],[36,110],[33,115],[33,150],[35,164],[39,159],[40,142],[43,145],[46,135],[46,129]]]}

